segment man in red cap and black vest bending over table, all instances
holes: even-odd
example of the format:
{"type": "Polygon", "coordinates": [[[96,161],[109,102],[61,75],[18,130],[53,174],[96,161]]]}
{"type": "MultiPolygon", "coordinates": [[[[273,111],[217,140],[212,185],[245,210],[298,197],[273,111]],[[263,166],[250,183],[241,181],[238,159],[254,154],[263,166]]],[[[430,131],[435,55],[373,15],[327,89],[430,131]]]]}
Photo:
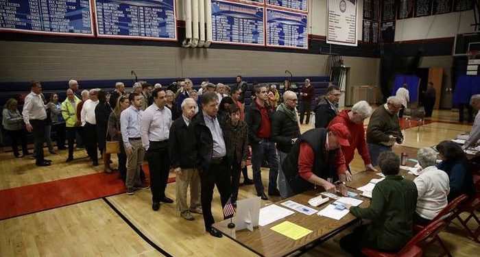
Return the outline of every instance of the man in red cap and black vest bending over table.
{"type": "Polygon", "coordinates": [[[340,146],[348,146],[350,133],[344,124],[309,130],[293,145],[282,163],[293,194],[322,186],[326,191],[347,195],[346,165],[340,146]]]}

